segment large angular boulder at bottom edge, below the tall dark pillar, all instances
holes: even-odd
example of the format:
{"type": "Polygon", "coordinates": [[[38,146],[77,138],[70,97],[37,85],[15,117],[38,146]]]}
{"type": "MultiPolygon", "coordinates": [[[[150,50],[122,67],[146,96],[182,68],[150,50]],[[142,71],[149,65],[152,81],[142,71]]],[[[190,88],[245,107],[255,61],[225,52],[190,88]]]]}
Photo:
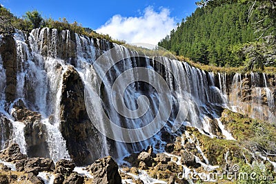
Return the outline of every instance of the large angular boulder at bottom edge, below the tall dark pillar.
{"type": "Polygon", "coordinates": [[[94,176],[93,181],[96,184],[119,184],[121,183],[121,176],[118,172],[117,163],[111,158],[106,156],[103,159],[95,161],[90,165],[90,170],[94,176]]]}

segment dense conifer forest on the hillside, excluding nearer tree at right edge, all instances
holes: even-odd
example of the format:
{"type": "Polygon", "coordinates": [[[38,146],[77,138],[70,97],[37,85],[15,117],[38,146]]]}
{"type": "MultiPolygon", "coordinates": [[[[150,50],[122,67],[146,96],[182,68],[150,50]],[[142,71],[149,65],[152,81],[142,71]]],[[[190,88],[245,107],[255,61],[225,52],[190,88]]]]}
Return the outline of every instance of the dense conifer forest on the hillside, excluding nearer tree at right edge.
{"type": "MultiPolygon", "coordinates": [[[[214,1],[215,2],[215,1],[214,1]]],[[[177,30],[159,42],[161,47],[193,61],[216,66],[239,66],[230,45],[254,41],[253,25],[247,21],[249,5],[225,3],[197,8],[177,30]]]]}

